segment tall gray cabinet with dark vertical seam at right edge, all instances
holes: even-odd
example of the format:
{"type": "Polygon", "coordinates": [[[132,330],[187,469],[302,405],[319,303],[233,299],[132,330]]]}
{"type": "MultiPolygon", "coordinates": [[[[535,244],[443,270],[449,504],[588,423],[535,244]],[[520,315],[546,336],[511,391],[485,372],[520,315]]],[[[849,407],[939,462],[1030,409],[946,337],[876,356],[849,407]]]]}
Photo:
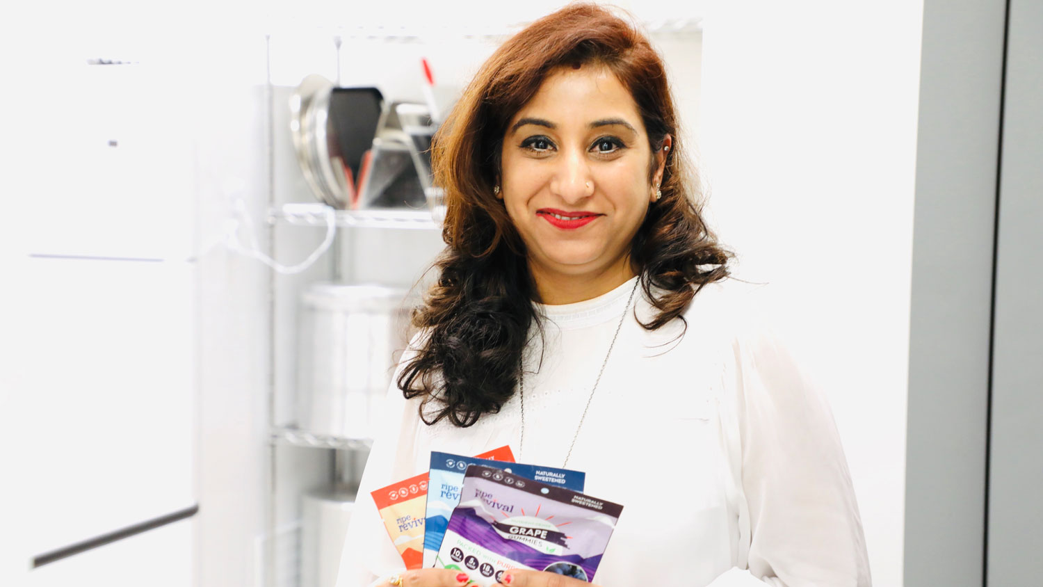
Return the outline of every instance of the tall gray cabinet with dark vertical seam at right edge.
{"type": "Polygon", "coordinates": [[[1043,574],[1041,29],[1032,0],[924,6],[906,587],[1043,574]]]}

